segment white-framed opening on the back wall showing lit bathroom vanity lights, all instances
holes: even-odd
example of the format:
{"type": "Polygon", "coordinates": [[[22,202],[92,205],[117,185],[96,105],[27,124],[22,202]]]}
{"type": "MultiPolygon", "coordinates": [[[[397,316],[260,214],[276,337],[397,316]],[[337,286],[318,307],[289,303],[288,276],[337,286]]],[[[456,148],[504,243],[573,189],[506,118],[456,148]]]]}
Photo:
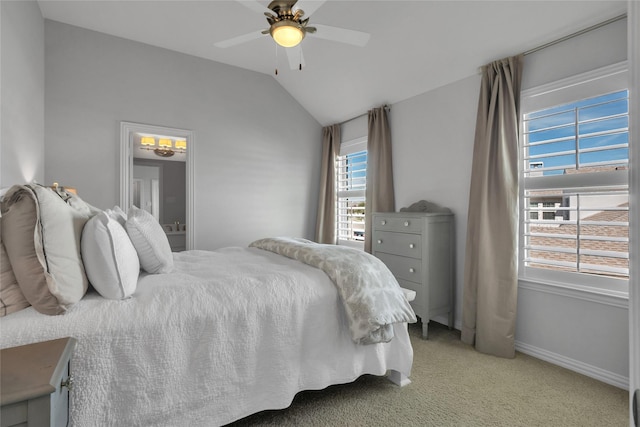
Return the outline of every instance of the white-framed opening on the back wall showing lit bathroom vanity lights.
{"type": "Polygon", "coordinates": [[[158,220],[174,252],[193,249],[193,132],[120,123],[120,206],[158,220]]]}

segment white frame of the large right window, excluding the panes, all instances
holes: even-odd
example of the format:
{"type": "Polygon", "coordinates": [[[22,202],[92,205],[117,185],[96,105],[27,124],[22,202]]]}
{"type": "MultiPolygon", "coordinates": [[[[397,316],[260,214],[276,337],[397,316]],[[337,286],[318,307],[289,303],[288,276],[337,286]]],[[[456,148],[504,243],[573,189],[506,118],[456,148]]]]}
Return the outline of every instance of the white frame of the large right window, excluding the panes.
{"type": "MultiPolygon", "coordinates": [[[[521,92],[520,135],[522,144],[519,155],[519,256],[518,278],[526,282],[538,282],[577,290],[585,290],[612,296],[628,297],[629,280],[602,277],[581,272],[566,272],[525,266],[525,191],[526,190],[591,190],[626,186],[629,191],[629,168],[621,171],[568,175],[525,177],[524,116],[527,113],[597,97],[606,93],[629,89],[627,62],[623,61],[593,71],[581,73],[549,84],[533,87],[521,92]]],[[[631,125],[631,124],[630,124],[631,125]]],[[[631,140],[629,140],[629,145],[631,140]]]]}

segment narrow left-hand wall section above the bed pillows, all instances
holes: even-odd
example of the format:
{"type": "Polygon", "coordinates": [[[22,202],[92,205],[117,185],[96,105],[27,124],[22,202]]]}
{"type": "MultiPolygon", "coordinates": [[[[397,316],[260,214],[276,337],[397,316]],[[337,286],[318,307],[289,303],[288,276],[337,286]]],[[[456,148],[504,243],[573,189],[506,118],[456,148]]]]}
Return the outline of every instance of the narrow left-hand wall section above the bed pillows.
{"type": "Polygon", "coordinates": [[[0,2],[0,188],[44,180],[44,20],[35,1],[0,2]]]}

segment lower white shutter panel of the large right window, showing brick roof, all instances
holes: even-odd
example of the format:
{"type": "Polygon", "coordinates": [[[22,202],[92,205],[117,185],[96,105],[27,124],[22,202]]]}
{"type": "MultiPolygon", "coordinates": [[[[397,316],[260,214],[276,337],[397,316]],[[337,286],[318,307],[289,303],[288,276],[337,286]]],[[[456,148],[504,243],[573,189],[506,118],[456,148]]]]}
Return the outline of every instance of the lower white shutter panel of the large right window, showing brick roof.
{"type": "Polygon", "coordinates": [[[607,277],[629,276],[629,204],[625,188],[528,191],[525,266],[607,277]],[[558,200],[555,207],[538,200],[558,200]],[[543,215],[540,215],[542,213],[543,215]],[[549,213],[550,215],[544,215],[549,213]]]}

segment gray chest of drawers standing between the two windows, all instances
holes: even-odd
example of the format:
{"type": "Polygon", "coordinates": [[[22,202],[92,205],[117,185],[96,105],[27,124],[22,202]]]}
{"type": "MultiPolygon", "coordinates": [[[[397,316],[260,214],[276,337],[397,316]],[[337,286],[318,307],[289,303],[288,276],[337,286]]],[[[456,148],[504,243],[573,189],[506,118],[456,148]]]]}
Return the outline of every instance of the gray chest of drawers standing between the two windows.
{"type": "Polygon", "coordinates": [[[427,338],[429,320],[447,314],[453,327],[453,214],[374,213],[371,249],[398,279],[416,291],[411,305],[427,338]]]}

